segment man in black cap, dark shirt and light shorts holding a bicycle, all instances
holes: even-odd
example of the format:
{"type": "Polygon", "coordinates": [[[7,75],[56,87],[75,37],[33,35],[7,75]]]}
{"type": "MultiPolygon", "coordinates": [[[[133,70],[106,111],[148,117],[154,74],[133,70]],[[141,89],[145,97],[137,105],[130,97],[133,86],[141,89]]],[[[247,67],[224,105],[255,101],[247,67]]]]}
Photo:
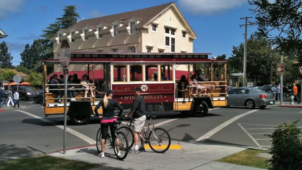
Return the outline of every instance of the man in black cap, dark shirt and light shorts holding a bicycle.
{"type": "Polygon", "coordinates": [[[140,87],[136,87],[132,89],[136,98],[133,101],[130,112],[125,115],[125,117],[129,117],[133,115],[133,136],[134,136],[134,148],[129,151],[129,153],[140,153],[145,152],[144,141],[140,138],[140,148],[138,148],[138,134],[140,133],[143,136],[143,127],[146,121],[146,104],[144,98],[141,96],[142,89],[140,87]]]}

